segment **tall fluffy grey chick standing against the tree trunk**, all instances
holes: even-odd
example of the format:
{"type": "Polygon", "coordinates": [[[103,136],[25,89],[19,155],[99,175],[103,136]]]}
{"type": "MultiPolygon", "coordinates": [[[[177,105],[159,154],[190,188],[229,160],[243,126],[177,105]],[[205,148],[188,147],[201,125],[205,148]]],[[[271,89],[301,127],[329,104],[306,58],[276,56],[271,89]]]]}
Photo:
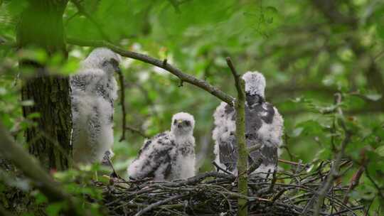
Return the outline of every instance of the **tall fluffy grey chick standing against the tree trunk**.
{"type": "Polygon", "coordinates": [[[102,162],[112,157],[114,99],[121,56],[108,48],[95,48],[70,75],[73,161],[102,162]]]}

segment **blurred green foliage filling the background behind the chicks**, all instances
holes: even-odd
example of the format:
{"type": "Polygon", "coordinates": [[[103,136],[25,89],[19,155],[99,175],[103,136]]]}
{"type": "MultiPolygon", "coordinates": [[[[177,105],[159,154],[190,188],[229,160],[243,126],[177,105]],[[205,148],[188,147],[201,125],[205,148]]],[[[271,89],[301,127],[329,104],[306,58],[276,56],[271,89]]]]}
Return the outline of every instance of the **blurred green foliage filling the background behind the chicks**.
{"type": "MultiPolygon", "coordinates": [[[[225,57],[233,59],[238,71],[262,72],[267,78],[267,101],[284,117],[284,145],[289,151],[282,158],[287,160],[309,163],[334,157],[334,148],[343,138],[334,112],[334,93],[341,92],[344,117],[353,130],[346,149],[353,167],[341,176],[342,182],[348,183],[365,152],[370,179],[363,175],[351,196],[367,206],[372,203],[370,214],[380,215],[380,202],[384,206],[384,2],[331,1],[333,6],[325,10],[319,2],[84,0],[82,6],[96,23],[71,2],[63,20],[67,38],[107,40],[127,50],[167,58],[183,72],[230,95],[235,95],[235,87],[225,57]]],[[[91,50],[68,44],[67,63],[60,56],[48,58],[41,50],[16,52],[9,44],[16,40],[18,16],[26,4],[0,1],[0,43],[4,44],[0,46],[0,119],[20,144],[25,143],[23,130],[33,124],[21,114],[21,106],[31,102],[20,99],[23,73],[18,73],[18,58],[33,55],[55,72],[68,75],[91,50]]],[[[212,115],[220,101],[189,84],[178,87],[176,77],[146,63],[124,59],[122,68],[127,124],[154,135],[169,129],[172,114],[193,114],[198,168],[212,170],[212,115]]],[[[127,131],[127,139],[119,142],[122,112],[116,104],[113,161],[118,173],[127,177],[125,169],[144,138],[127,131]]],[[[67,182],[68,176],[82,175],[71,172],[78,171],[58,179],[67,182]]],[[[66,186],[72,193],[100,198],[92,188],[66,186]]],[[[57,215],[60,205],[48,205],[48,215],[57,215]]]]}

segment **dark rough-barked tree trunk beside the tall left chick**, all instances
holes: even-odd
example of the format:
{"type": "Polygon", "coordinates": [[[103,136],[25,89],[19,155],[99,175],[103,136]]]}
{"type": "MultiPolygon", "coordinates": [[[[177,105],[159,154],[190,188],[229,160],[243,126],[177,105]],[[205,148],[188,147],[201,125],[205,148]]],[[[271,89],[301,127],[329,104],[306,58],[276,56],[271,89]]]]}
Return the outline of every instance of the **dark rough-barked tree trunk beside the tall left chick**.
{"type": "MultiPolygon", "coordinates": [[[[68,0],[30,0],[21,14],[17,29],[18,48],[43,48],[48,55],[66,58],[63,12],[68,0]]],[[[36,73],[23,81],[21,98],[33,100],[23,107],[23,116],[38,112],[37,126],[26,130],[28,149],[47,169],[65,170],[72,156],[70,86],[68,77],[48,75],[44,65],[24,59],[20,67],[33,67],[36,73]]]]}

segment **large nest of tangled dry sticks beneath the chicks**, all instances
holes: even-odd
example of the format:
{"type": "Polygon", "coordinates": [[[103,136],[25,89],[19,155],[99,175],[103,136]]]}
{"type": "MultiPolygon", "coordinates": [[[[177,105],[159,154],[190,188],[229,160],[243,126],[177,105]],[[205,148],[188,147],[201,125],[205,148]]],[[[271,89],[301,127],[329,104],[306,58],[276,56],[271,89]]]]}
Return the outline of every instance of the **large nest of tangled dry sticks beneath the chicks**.
{"type": "MultiPolygon", "coordinates": [[[[237,215],[238,198],[247,200],[250,215],[313,215],[329,168],[324,163],[314,171],[306,168],[299,165],[290,172],[265,173],[264,178],[250,176],[248,196],[238,193],[235,175],[223,172],[172,182],[111,178],[110,184],[97,186],[103,190],[110,215],[237,215]]],[[[319,215],[360,214],[363,206],[343,200],[349,192],[348,186],[333,184],[324,195],[319,215]]]]}

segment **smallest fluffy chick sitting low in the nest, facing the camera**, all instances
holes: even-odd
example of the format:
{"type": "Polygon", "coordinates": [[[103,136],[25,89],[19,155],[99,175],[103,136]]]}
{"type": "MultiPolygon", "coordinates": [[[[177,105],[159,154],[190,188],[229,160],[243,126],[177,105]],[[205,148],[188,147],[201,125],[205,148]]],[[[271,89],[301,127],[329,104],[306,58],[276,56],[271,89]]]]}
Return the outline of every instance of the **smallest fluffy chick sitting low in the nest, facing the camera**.
{"type": "Polygon", "coordinates": [[[137,158],[127,168],[129,178],[171,181],[195,175],[194,126],[195,120],[191,114],[174,114],[171,131],[144,141],[137,158]]]}

